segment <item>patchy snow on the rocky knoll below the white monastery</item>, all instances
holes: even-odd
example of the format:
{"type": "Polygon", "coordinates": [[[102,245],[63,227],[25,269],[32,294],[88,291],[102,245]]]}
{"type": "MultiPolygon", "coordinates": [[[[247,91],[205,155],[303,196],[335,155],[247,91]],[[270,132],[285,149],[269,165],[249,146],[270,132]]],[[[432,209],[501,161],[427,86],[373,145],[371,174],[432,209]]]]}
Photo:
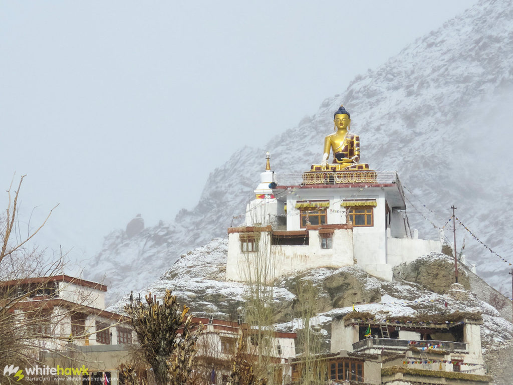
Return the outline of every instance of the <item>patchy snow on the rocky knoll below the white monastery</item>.
{"type": "MultiPolygon", "coordinates": [[[[243,306],[246,286],[241,282],[226,280],[227,252],[227,239],[213,239],[206,245],[182,255],[159,280],[141,292],[134,293],[134,298],[138,298],[139,294],[144,298],[144,295],[148,292],[156,295],[157,299],[162,298],[166,289],[169,289],[182,302],[191,306],[196,313],[213,314],[219,318],[233,318],[233,314],[238,313],[243,306]]],[[[431,257],[437,258],[436,255],[431,257]]],[[[328,296],[326,292],[322,292],[324,281],[340,273],[351,274],[358,279],[364,279],[364,291],[372,291],[378,288],[381,292],[379,303],[356,303],[354,309],[357,311],[369,312],[382,319],[456,311],[479,312],[483,314],[481,335],[484,347],[507,341],[513,336],[513,325],[501,318],[494,307],[478,300],[476,295],[472,293],[464,292],[468,294],[468,298],[465,301],[459,301],[448,294],[430,292],[416,283],[382,281],[367,275],[359,266],[311,269],[302,272],[301,279],[310,280],[319,287],[321,290],[320,296],[328,296]],[[445,303],[447,303],[447,307],[445,303]]],[[[286,279],[286,277],[282,277],[281,280],[277,281],[277,285],[273,287],[274,302],[277,306],[283,303],[291,304],[295,298],[286,287],[283,287],[286,279]]],[[[125,296],[108,310],[123,312],[123,307],[128,300],[128,296],[125,296]]],[[[326,335],[329,333],[329,324],[334,317],[345,315],[351,311],[352,306],[330,309],[313,317],[311,324],[320,325],[323,328],[321,333],[326,335]]],[[[298,330],[302,328],[302,320],[294,318],[287,322],[278,323],[275,327],[277,330],[283,331],[298,330]]]]}

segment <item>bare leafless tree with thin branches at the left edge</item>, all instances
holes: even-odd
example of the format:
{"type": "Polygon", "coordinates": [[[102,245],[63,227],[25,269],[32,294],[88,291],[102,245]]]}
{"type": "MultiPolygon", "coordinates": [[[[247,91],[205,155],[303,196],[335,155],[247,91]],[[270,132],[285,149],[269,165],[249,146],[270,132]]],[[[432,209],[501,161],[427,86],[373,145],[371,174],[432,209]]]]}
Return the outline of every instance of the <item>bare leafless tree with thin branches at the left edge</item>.
{"type": "MultiPolygon", "coordinates": [[[[19,179],[12,191],[7,189],[8,203],[0,216],[0,367],[5,365],[30,365],[37,362],[38,351],[45,348],[48,337],[60,322],[51,314],[45,300],[49,289],[45,282],[24,285],[28,278],[61,273],[64,257],[59,255],[48,261],[36,247],[29,247],[30,240],[41,230],[50,217],[52,208],[35,230],[28,228],[22,236],[18,221],[19,192],[25,176],[19,179]],[[23,290],[22,290],[23,287],[23,290]],[[40,301],[28,301],[32,297],[40,301]]],[[[3,372],[0,372],[3,375],[3,372]]],[[[12,376],[4,376],[6,382],[15,382],[12,376]]],[[[19,382],[18,382],[19,383],[19,382]]]]}

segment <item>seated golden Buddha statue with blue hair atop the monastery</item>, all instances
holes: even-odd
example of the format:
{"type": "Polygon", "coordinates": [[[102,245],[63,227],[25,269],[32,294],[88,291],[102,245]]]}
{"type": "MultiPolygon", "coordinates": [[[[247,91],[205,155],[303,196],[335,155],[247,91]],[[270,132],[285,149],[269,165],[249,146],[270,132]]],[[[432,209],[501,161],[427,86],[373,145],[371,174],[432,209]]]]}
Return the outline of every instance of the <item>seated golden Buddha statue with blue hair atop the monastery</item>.
{"type": "Polygon", "coordinates": [[[321,170],[368,170],[367,163],[360,161],[360,137],[349,132],[351,119],[349,112],[340,106],[333,115],[336,132],[324,139],[324,152],[321,162],[321,170]],[[330,150],[333,151],[332,164],[328,166],[330,150]]]}

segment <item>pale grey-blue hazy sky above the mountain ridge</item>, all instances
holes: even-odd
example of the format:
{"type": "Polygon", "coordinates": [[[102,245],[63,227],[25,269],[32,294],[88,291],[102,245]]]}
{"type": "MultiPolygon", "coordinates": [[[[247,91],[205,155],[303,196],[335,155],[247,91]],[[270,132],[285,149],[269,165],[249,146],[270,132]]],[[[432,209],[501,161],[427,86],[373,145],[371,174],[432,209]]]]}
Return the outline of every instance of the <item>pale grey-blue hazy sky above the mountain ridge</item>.
{"type": "Polygon", "coordinates": [[[473,3],[2,1],[1,190],[27,174],[22,229],[60,203],[38,243],[90,257],[473,3]]]}

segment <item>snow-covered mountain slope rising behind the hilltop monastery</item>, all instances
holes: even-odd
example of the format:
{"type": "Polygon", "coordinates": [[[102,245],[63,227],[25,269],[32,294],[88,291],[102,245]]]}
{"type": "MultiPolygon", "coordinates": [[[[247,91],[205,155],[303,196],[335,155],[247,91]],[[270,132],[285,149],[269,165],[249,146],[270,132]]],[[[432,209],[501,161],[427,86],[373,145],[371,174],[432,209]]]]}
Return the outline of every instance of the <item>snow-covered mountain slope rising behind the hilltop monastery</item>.
{"type": "MultiPolygon", "coordinates": [[[[193,210],[131,238],[123,230],[107,236],[87,278],[105,277],[111,297],[119,298],[153,282],[187,250],[225,236],[228,226],[242,221],[265,151],[278,174],[319,163],[342,103],[351,113],[351,130],[360,134],[362,161],[399,172],[411,227],[421,237],[435,237],[433,226],[442,227],[455,204],[473,234],[513,260],[507,253],[513,248],[513,0],[479,2],[348,85],[342,73],[333,81],[345,90],[324,100],[315,115],[265,148],[241,148],[215,169],[193,210]]],[[[457,229],[478,273],[496,287],[506,284],[510,266],[457,229]]]]}

